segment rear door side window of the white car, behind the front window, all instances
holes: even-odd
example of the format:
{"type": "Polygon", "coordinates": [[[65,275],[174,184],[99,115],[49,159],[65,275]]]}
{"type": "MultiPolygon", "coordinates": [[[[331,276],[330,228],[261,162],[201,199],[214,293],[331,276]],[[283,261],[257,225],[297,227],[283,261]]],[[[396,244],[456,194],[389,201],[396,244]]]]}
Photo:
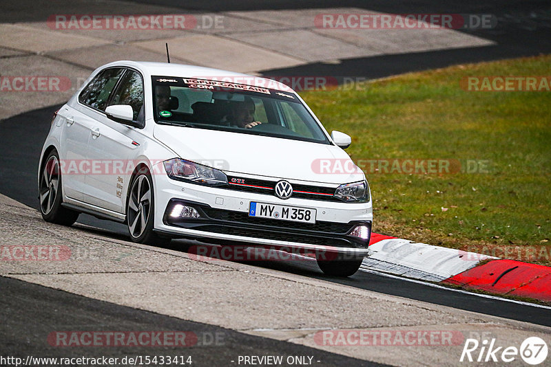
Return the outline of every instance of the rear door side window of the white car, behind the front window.
{"type": "Polygon", "coordinates": [[[120,68],[101,71],[81,92],[79,101],[94,109],[105,111],[107,100],[123,71],[124,69],[120,68]]]}

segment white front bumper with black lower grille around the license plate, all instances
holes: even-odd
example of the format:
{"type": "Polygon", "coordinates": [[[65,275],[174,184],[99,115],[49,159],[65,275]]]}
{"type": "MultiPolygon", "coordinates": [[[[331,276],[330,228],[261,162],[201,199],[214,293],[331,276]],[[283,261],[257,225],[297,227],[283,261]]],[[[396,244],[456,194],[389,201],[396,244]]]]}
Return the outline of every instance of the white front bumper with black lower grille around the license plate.
{"type": "Polygon", "coordinates": [[[155,228],[165,236],[227,245],[245,243],[353,256],[368,254],[373,220],[371,202],[351,204],[300,198],[282,200],[273,195],[174,181],[163,175],[156,175],[155,179],[155,228]],[[318,213],[316,223],[250,217],[251,201],[315,208],[318,213]],[[169,213],[176,203],[195,208],[200,218],[171,218],[169,213]],[[368,238],[350,235],[354,227],[360,224],[368,227],[368,238]]]}

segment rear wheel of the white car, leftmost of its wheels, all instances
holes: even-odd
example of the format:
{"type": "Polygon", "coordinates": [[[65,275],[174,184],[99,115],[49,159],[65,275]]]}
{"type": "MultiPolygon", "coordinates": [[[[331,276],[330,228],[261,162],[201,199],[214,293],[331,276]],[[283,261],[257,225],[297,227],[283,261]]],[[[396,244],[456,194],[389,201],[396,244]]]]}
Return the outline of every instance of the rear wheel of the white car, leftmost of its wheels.
{"type": "Polygon", "coordinates": [[[50,223],[61,225],[73,225],[79,212],[63,208],[61,205],[63,194],[61,192],[61,169],[59,155],[54,149],[44,159],[39,178],[39,204],[42,218],[50,223]]]}

